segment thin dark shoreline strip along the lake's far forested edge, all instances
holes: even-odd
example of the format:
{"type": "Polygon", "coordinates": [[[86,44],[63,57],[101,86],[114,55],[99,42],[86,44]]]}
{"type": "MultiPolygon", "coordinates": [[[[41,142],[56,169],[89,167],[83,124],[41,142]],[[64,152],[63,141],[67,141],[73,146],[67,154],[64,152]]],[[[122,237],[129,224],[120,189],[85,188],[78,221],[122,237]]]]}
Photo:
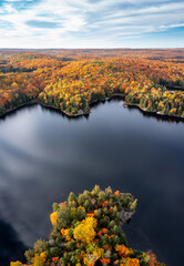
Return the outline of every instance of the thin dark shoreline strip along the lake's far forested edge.
{"type": "MultiPolygon", "coordinates": [[[[30,106],[30,105],[34,105],[34,104],[39,104],[39,105],[41,105],[42,108],[58,111],[58,112],[61,113],[61,114],[64,114],[64,115],[67,115],[67,116],[69,116],[69,117],[71,117],[71,119],[72,119],[72,117],[74,119],[74,117],[79,117],[79,116],[83,116],[83,115],[89,115],[89,114],[91,113],[91,108],[93,106],[93,104],[95,104],[95,103],[98,103],[98,102],[99,102],[99,103],[100,103],[100,102],[105,102],[105,101],[112,100],[113,98],[116,98],[116,96],[117,96],[117,98],[122,98],[123,101],[124,101],[124,99],[125,99],[125,95],[124,95],[123,93],[113,93],[110,98],[106,98],[106,99],[104,99],[104,100],[99,99],[99,100],[95,100],[95,101],[93,101],[93,102],[90,102],[90,103],[89,103],[90,110],[89,110],[88,113],[84,113],[82,110],[79,110],[79,112],[78,112],[76,114],[68,113],[67,111],[61,110],[61,109],[58,109],[58,108],[55,108],[55,106],[43,104],[43,103],[41,103],[40,100],[37,98],[37,99],[31,100],[30,102],[22,103],[22,104],[20,104],[20,105],[17,106],[17,108],[7,110],[6,113],[3,113],[3,114],[0,115],[0,119],[6,117],[8,114],[13,113],[14,111],[18,111],[18,110],[21,109],[21,108],[30,106]]],[[[176,121],[184,122],[184,117],[182,117],[182,116],[180,116],[180,115],[176,115],[176,114],[173,114],[173,115],[171,115],[171,114],[163,114],[163,113],[160,113],[160,112],[156,112],[156,111],[147,111],[147,110],[145,110],[145,109],[142,109],[142,108],[140,106],[140,104],[137,104],[137,103],[127,103],[127,102],[124,101],[123,106],[127,106],[127,108],[132,108],[132,109],[139,109],[143,114],[154,115],[154,116],[157,116],[157,117],[161,117],[161,119],[172,119],[172,120],[176,120],[176,121]]]]}

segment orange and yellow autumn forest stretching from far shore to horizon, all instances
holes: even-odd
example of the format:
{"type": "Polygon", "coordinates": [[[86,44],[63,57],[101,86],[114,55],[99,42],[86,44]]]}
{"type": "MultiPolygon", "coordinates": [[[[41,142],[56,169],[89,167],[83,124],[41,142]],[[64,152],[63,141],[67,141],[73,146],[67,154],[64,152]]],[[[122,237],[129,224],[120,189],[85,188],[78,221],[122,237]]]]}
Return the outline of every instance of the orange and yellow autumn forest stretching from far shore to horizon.
{"type": "Polygon", "coordinates": [[[31,102],[89,114],[91,103],[116,94],[184,117],[184,49],[0,50],[0,115],[31,102]]]}

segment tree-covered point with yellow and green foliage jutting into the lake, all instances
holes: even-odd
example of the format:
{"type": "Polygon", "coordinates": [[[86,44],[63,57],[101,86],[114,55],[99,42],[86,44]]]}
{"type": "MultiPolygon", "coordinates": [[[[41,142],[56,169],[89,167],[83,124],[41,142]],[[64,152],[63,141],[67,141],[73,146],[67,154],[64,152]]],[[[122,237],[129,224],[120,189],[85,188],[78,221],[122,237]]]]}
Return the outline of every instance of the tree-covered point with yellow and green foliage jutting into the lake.
{"type": "Polygon", "coordinates": [[[39,239],[25,252],[28,264],[10,266],[164,266],[153,253],[129,246],[122,226],[135,208],[130,193],[113,193],[111,187],[70,193],[68,201],[53,204],[50,239],[39,239]]]}

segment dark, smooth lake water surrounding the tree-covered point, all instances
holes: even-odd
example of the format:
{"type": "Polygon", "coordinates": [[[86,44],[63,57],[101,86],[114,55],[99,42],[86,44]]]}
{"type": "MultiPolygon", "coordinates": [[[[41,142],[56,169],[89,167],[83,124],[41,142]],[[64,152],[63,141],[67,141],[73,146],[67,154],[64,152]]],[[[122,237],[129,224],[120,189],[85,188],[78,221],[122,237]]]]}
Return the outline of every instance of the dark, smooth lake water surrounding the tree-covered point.
{"type": "Polygon", "coordinates": [[[184,123],[157,120],[112,100],[70,120],[40,105],[0,120],[0,265],[48,238],[53,202],[69,192],[131,192],[131,245],[181,266],[184,238],[184,123]]]}

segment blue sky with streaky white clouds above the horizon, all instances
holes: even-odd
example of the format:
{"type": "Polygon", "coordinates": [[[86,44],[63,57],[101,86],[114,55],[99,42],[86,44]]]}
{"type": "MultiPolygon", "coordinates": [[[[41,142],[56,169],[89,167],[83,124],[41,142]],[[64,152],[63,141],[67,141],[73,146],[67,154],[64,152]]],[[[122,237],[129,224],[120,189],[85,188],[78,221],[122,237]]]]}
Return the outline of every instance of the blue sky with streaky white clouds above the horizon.
{"type": "Polygon", "coordinates": [[[0,48],[183,48],[184,0],[0,0],[0,48]]]}

